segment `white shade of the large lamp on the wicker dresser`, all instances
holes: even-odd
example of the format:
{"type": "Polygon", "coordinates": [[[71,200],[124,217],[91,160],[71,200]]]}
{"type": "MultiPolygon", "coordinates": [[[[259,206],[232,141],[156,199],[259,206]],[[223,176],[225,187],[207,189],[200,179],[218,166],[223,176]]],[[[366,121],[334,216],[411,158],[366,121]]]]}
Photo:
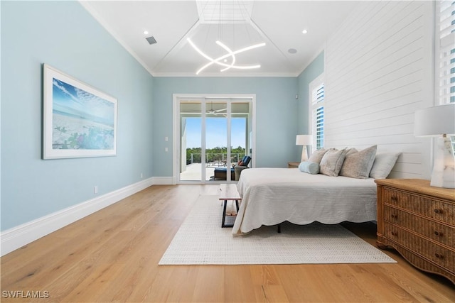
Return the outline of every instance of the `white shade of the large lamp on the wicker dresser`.
{"type": "Polygon", "coordinates": [[[419,109],[414,116],[414,136],[441,136],[455,134],[455,104],[419,109]]]}

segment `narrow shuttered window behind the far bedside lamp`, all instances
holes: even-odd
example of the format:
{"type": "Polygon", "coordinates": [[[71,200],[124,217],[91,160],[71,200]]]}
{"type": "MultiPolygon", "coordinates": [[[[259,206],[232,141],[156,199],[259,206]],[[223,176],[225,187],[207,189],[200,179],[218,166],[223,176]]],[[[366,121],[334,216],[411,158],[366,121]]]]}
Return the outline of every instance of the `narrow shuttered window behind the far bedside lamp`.
{"type": "Polygon", "coordinates": [[[324,77],[320,75],[309,84],[309,129],[313,134],[314,150],[324,146],[324,77]]]}

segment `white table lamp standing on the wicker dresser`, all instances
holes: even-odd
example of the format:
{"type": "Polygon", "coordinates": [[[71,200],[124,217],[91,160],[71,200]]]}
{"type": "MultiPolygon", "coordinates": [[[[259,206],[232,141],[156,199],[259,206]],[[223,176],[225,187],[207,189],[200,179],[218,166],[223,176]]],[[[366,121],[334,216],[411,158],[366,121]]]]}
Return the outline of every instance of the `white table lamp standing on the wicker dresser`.
{"type": "Polygon", "coordinates": [[[419,109],[414,116],[414,136],[435,140],[431,186],[455,188],[455,155],[450,138],[455,134],[455,103],[419,109]]]}

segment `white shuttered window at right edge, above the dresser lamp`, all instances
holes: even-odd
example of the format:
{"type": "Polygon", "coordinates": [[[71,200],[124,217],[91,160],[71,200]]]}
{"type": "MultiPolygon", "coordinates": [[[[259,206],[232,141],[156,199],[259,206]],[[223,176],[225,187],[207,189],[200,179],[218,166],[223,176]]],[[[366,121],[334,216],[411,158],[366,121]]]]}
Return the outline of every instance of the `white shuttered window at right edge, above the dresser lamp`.
{"type": "MultiPolygon", "coordinates": [[[[436,103],[455,103],[455,1],[436,2],[436,103]]],[[[451,137],[455,150],[455,137],[451,137]]]]}

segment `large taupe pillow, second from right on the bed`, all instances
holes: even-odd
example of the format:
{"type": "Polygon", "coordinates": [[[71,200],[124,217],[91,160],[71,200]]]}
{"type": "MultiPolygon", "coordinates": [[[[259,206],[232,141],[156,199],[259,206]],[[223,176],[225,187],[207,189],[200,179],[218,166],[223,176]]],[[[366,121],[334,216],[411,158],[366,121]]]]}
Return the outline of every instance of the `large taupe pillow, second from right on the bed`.
{"type": "Polygon", "coordinates": [[[377,145],[360,151],[351,148],[346,153],[340,175],[357,179],[368,179],[371,167],[373,167],[373,162],[375,161],[377,148],[377,145]]]}

